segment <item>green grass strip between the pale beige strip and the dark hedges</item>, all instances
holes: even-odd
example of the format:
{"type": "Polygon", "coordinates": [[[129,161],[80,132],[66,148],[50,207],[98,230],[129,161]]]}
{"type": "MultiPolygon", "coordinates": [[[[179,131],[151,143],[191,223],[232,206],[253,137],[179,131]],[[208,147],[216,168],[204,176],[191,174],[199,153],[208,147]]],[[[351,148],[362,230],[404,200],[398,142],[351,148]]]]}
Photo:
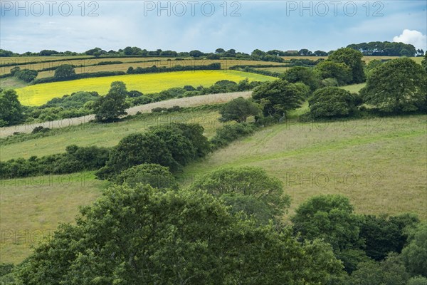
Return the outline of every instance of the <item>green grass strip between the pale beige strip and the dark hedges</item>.
{"type": "Polygon", "coordinates": [[[170,113],[162,115],[146,115],[143,118],[132,118],[118,123],[73,125],[67,128],[53,130],[53,135],[16,142],[10,145],[0,145],[0,160],[10,160],[17,157],[43,156],[65,152],[67,145],[97,145],[112,147],[131,133],[143,132],[150,126],[171,122],[199,123],[205,128],[208,138],[215,134],[216,128],[222,123],[218,121],[217,111],[199,110],[195,112],[170,113]]]}

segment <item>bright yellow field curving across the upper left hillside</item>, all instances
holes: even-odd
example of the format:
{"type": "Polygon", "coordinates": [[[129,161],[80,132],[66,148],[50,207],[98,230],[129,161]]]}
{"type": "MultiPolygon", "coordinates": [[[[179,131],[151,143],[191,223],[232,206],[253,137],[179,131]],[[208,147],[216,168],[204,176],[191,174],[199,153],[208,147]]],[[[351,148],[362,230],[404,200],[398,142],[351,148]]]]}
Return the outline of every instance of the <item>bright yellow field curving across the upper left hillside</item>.
{"type": "Polygon", "coordinates": [[[23,105],[42,105],[55,97],[62,97],[77,91],[97,91],[105,94],[110,89],[112,81],[123,81],[127,90],[139,90],[142,93],[154,93],[172,87],[186,85],[211,86],[216,81],[224,79],[230,81],[270,81],[275,78],[255,73],[240,71],[182,71],[173,73],[135,74],[126,76],[107,76],[100,78],[85,78],[75,81],[61,81],[36,84],[16,89],[19,100],[23,105]]]}

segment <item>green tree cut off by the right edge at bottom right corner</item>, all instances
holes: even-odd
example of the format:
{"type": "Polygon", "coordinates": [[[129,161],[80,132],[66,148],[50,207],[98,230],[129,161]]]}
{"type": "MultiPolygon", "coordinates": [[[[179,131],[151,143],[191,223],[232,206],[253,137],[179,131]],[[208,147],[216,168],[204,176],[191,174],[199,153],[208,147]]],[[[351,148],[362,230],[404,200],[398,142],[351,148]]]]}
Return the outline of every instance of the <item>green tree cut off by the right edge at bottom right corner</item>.
{"type": "Polygon", "coordinates": [[[408,244],[401,257],[410,274],[427,277],[427,224],[423,222],[415,229],[409,229],[408,235],[408,244]]]}

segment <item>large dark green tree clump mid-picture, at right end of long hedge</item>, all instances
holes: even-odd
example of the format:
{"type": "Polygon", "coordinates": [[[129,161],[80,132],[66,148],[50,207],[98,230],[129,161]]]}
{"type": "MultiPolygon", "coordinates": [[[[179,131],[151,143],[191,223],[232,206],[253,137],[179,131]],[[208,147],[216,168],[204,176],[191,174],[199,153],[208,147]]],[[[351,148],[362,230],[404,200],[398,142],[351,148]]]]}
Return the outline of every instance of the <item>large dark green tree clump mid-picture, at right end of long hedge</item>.
{"type": "Polygon", "coordinates": [[[100,179],[112,179],[122,170],[142,163],[179,170],[209,152],[209,142],[203,132],[201,125],[172,123],[128,135],[113,147],[107,164],[96,175],[100,179]]]}

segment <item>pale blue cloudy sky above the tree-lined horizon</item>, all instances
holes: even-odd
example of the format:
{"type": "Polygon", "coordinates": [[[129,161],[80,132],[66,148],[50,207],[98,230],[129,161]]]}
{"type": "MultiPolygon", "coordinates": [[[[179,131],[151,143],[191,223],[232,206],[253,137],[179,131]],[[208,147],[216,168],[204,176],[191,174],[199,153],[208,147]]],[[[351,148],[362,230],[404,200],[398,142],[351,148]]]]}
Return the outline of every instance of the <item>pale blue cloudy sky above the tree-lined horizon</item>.
{"type": "Polygon", "coordinates": [[[147,50],[251,53],[401,41],[427,50],[427,0],[4,1],[0,48],[23,53],[147,50]]]}

